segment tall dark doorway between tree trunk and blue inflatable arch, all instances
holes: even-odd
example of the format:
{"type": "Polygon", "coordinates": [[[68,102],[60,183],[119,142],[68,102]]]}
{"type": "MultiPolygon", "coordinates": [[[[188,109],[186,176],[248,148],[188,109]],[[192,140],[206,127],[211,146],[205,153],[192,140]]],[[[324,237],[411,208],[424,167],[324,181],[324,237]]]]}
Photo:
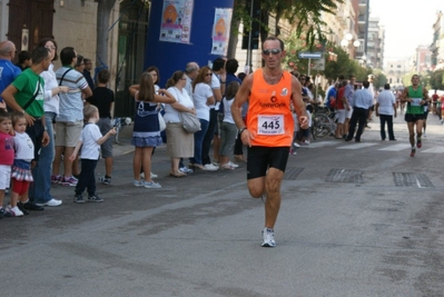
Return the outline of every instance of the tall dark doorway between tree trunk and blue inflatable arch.
{"type": "Polygon", "coordinates": [[[144,71],[149,9],[140,0],[120,3],[115,117],[134,115],[128,87],[139,82],[144,71]]]}

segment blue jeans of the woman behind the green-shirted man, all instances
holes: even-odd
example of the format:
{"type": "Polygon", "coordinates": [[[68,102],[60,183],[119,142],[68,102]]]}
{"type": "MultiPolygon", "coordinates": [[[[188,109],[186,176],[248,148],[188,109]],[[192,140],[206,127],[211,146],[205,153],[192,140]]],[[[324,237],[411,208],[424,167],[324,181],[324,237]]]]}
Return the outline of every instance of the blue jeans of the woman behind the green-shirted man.
{"type": "Polygon", "coordinates": [[[49,143],[40,149],[40,158],[32,169],[33,182],[29,187],[29,199],[36,204],[43,204],[53,197],[51,190],[52,160],[55,157],[55,138],[52,120],[56,119],[55,112],[45,112],[45,123],[49,136],[49,143]]]}

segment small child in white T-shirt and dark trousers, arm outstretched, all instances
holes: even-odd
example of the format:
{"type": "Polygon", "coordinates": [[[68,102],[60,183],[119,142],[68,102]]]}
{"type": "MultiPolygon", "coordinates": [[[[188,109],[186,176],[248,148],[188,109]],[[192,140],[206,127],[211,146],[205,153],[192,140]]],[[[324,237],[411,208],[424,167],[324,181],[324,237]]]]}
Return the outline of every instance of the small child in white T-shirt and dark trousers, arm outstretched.
{"type": "Polygon", "coordinates": [[[69,157],[72,162],[81,148],[81,171],[79,181],[76,186],[76,195],[73,201],[76,204],[83,204],[83,191],[88,190],[89,202],[102,202],[99,196],[96,195],[96,175],[95,169],[99,159],[100,145],[107,141],[111,135],[116,135],[116,129],[111,128],[105,136],[100,133],[99,127],[96,125],[99,121],[99,110],[97,107],[87,105],[83,108],[83,116],[87,123],[81,130],[80,139],[77,142],[75,151],[69,157]]]}

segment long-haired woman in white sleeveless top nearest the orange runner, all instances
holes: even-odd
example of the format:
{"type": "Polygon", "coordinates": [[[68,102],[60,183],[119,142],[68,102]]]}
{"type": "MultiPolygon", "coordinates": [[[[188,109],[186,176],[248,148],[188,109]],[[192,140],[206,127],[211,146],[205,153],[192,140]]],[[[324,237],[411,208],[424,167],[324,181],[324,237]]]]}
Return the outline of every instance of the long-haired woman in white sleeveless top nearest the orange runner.
{"type": "Polygon", "coordinates": [[[219,149],[220,169],[235,169],[235,166],[229,161],[229,156],[233,155],[237,136],[237,126],[231,116],[231,103],[239,90],[239,82],[231,81],[227,86],[227,95],[224,98],[224,121],[220,129],[219,149]]]}

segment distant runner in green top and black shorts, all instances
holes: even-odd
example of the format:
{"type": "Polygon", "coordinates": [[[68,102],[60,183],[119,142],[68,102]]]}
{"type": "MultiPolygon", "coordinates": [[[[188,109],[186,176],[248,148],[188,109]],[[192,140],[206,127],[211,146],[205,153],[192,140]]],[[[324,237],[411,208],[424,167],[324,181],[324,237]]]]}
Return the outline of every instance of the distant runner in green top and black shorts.
{"type": "Polygon", "coordinates": [[[420,76],[414,75],[412,77],[412,86],[404,89],[401,95],[401,102],[407,102],[407,109],[405,111],[404,119],[407,122],[410,141],[412,145],[411,157],[415,156],[416,147],[421,148],[422,130],[424,125],[424,105],[431,101],[428,98],[428,91],[426,88],[420,85],[420,76]],[[415,146],[415,126],[416,126],[416,146],[415,146]]]}

